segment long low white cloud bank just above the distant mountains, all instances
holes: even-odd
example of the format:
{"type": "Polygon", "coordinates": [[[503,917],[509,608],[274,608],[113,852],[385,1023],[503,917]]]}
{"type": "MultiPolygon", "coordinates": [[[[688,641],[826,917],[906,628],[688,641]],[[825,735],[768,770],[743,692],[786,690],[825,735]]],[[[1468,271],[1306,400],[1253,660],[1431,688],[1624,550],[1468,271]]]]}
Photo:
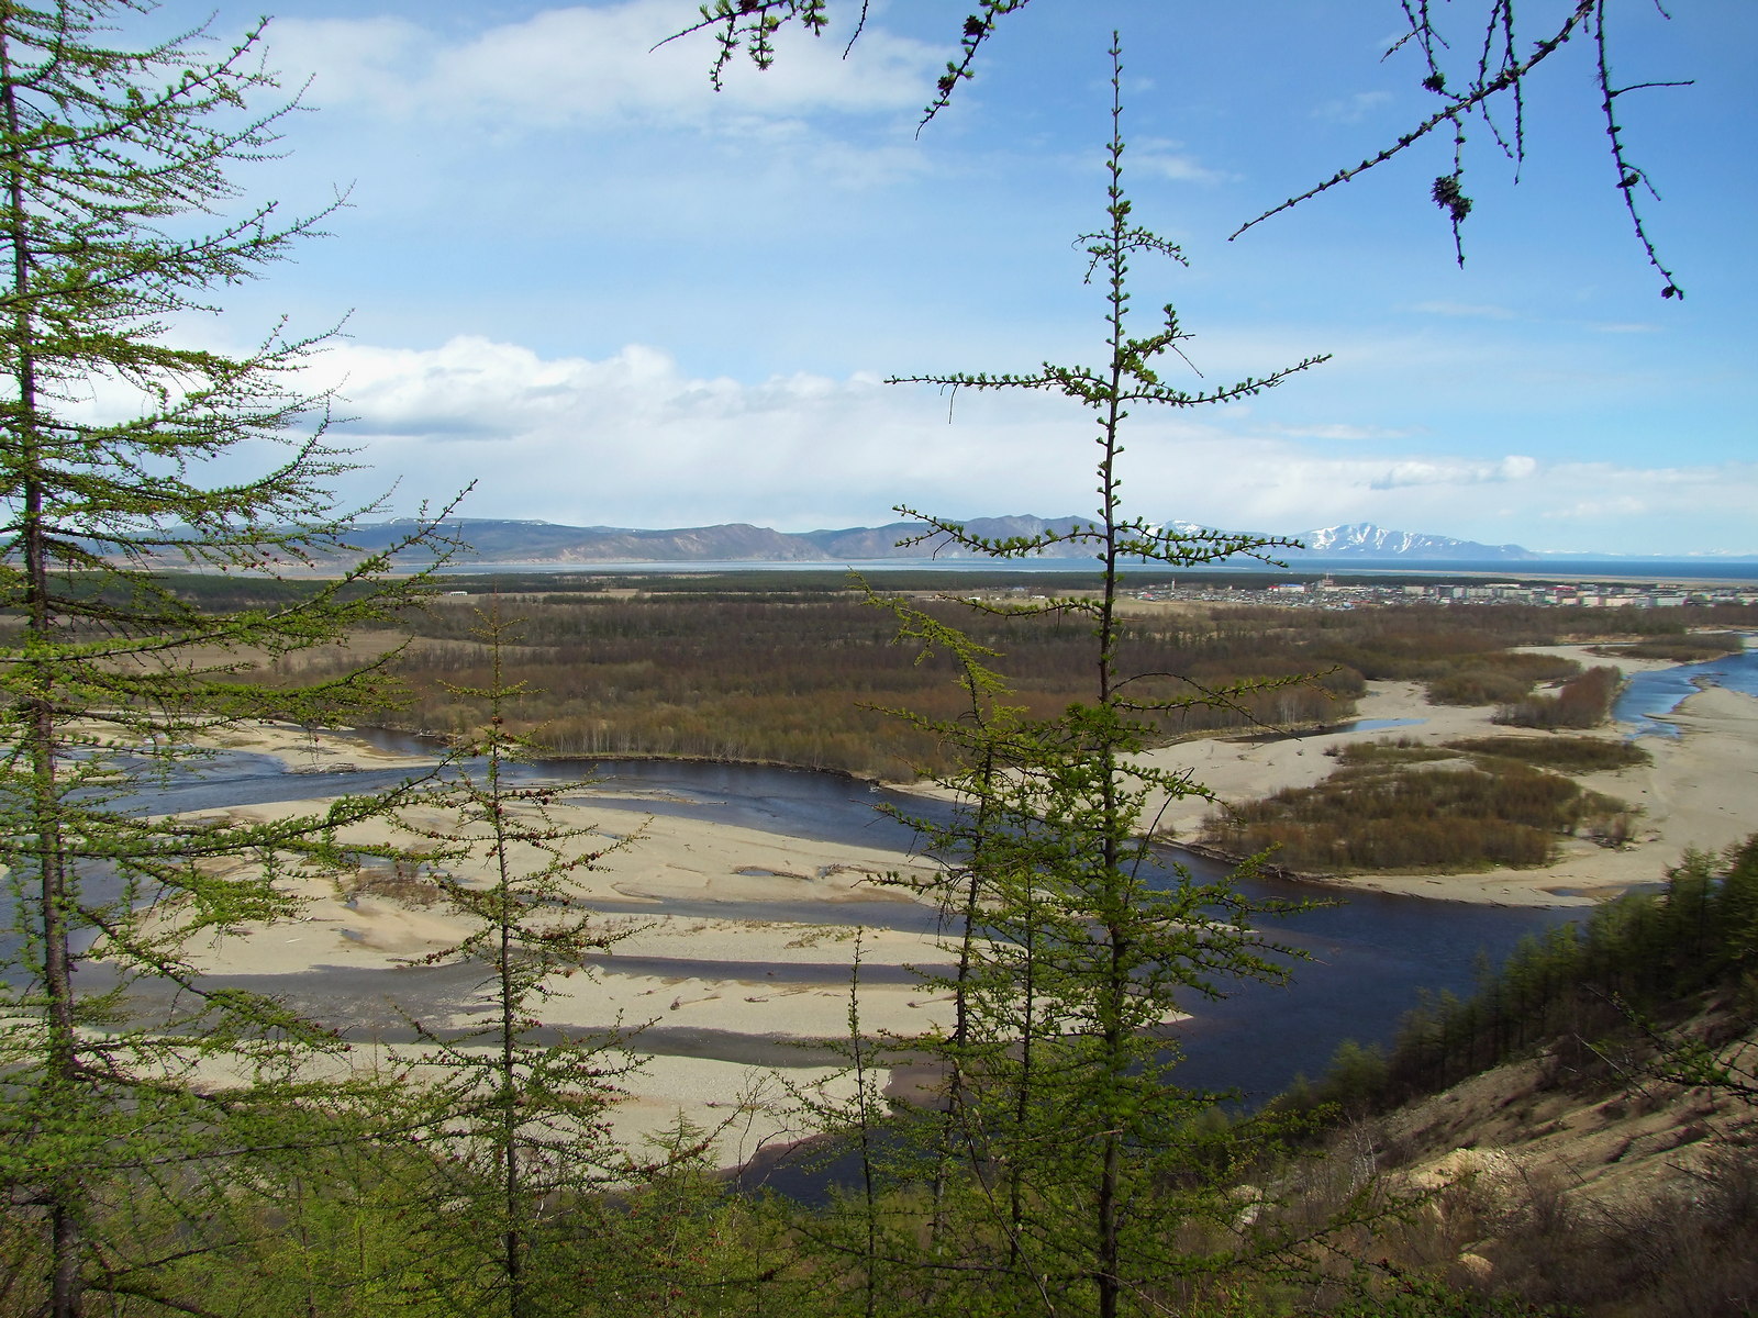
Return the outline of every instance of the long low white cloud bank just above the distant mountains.
{"type": "MultiPolygon", "coordinates": [[[[345,344],[313,376],[339,427],[415,497],[476,480],[466,515],[580,525],[874,525],[909,503],[948,515],[1085,511],[1090,422],[1044,395],[884,387],[870,374],[693,376],[631,344],[601,360],[459,337],[345,344]]],[[[1125,499],[1151,518],[1296,532],[1343,522],[1549,548],[1751,552],[1758,464],[1642,469],[1510,453],[1371,457],[1217,420],[1132,418],[1125,499]]],[[[1310,429],[1324,434],[1333,427],[1310,429]]],[[[359,497],[376,485],[350,490],[359,497]]]]}

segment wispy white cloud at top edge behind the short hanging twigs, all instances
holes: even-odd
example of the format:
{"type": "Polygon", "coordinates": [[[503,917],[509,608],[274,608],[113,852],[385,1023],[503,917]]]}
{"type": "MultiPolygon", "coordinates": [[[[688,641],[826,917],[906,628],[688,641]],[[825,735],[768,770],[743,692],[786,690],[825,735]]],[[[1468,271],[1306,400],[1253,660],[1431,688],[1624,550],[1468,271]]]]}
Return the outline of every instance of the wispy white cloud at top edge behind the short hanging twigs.
{"type": "Polygon", "coordinates": [[[283,19],[271,58],[288,79],[313,74],[318,104],[362,104],[434,123],[496,130],[621,118],[726,121],[807,111],[916,111],[944,54],[868,25],[844,60],[835,33],[781,33],[768,70],[728,70],[708,84],[707,33],[663,44],[680,14],[672,0],[547,9],[462,39],[397,18],[283,19]],[[657,47],[657,49],[656,49],[657,47]]]}

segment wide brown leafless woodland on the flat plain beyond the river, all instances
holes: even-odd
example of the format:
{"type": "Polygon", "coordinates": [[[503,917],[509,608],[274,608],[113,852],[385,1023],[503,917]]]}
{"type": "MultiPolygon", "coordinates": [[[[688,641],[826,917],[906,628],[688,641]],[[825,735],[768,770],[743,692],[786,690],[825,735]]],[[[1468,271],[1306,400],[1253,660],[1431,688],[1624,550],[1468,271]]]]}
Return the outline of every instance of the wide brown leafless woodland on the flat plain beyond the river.
{"type": "MultiPolygon", "coordinates": [[[[480,597],[441,597],[404,620],[418,641],[401,659],[411,698],[392,722],[436,733],[475,724],[475,701],[450,687],[485,682],[487,652],[473,640],[483,606],[480,597]]],[[[853,592],[550,592],[492,606],[513,624],[517,641],[505,647],[505,663],[526,685],[510,717],[557,754],[779,761],[905,780],[949,768],[933,738],[884,710],[955,717],[962,701],[955,664],[895,643],[891,617],[853,592]]],[[[1079,622],[953,603],[926,608],[999,654],[995,666],[1007,673],[1028,717],[1065,708],[1090,685],[1092,638],[1079,622]]],[[[1688,613],[1619,617],[1617,624],[1682,634],[1695,622],[1688,613]]],[[[1603,610],[1132,615],[1120,663],[1159,675],[1137,680],[1132,692],[1174,703],[1159,717],[1160,735],[1171,740],[1341,722],[1354,715],[1364,680],[1424,682],[1433,699],[1452,703],[1519,701],[1538,682],[1568,680],[1580,670],[1508,647],[1568,640],[1589,622],[1603,627],[1603,610]]],[[[341,654],[318,655],[297,668],[313,677],[345,663],[341,654]]]]}

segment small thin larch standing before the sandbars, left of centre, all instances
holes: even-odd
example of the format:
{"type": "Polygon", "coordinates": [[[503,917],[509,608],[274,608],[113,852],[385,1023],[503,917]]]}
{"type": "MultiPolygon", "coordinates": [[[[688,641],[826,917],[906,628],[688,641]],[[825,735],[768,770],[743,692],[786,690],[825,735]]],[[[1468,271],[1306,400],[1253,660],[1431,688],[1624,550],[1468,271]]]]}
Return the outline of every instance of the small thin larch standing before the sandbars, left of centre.
{"type": "MultiPolygon", "coordinates": [[[[418,1061],[441,1077],[431,1102],[445,1197],[471,1204],[469,1230],[441,1244],[464,1260],[454,1271],[476,1278],[471,1311],[536,1318],[573,1311],[559,1290],[568,1265],[557,1253],[578,1265],[568,1248],[589,1234],[592,1193],[640,1179],[605,1125],[619,1077],[638,1065],[628,1040],[617,1032],[556,1030],[540,1016],[559,979],[582,972],[629,931],[584,910],[571,879],[635,835],[612,838],[561,821],[556,798],[577,784],[517,780],[533,745],[506,721],[526,689],[503,677],[510,627],[498,606],[478,619],[489,680],[447,689],[476,703],[485,719],[454,738],[445,778],[399,812],[413,833],[399,863],[413,863],[436,886],[462,930],[424,960],[480,972],[480,1026],[452,1032],[417,1021],[418,1061]]],[[[675,1156],[689,1153],[680,1148],[675,1156]]]]}

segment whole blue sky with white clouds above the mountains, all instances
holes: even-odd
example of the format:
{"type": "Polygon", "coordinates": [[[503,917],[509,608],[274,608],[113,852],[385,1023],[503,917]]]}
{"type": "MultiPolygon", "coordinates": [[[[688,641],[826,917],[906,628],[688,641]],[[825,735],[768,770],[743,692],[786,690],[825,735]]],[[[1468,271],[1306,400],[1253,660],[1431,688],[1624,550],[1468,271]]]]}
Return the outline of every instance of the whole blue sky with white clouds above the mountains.
{"type": "MultiPolygon", "coordinates": [[[[1442,11],[1461,53],[1480,7],[1442,11]]],[[[1570,7],[1517,12],[1536,39],[1570,7]]],[[[847,60],[846,26],[784,40],[719,95],[707,37],[649,49],[689,0],[288,0],[269,58],[315,112],[241,181],[350,206],[202,332],[346,316],[313,380],[369,466],[343,492],[396,483],[396,511],[469,480],[466,515],[584,525],[1086,511],[1067,404],[881,380],[1099,358],[1072,239],[1102,218],[1116,26],[1136,216],[1190,258],[1137,264],[1136,306],[1178,304],[1211,383],[1333,355],[1245,404],[1132,418],[1132,511],[1754,554],[1758,5],[1610,9],[1619,81],[1695,79],[1619,111],[1682,302],[1623,216],[1586,42],[1529,84],[1517,181],[1470,127],[1463,271],[1429,200],[1445,135],[1227,241],[1429,112],[1413,54],[1380,60],[1396,0],[1034,0],[919,135],[948,0],[875,0],[847,60]]],[[[255,12],[225,0],[213,32],[255,12]]]]}

